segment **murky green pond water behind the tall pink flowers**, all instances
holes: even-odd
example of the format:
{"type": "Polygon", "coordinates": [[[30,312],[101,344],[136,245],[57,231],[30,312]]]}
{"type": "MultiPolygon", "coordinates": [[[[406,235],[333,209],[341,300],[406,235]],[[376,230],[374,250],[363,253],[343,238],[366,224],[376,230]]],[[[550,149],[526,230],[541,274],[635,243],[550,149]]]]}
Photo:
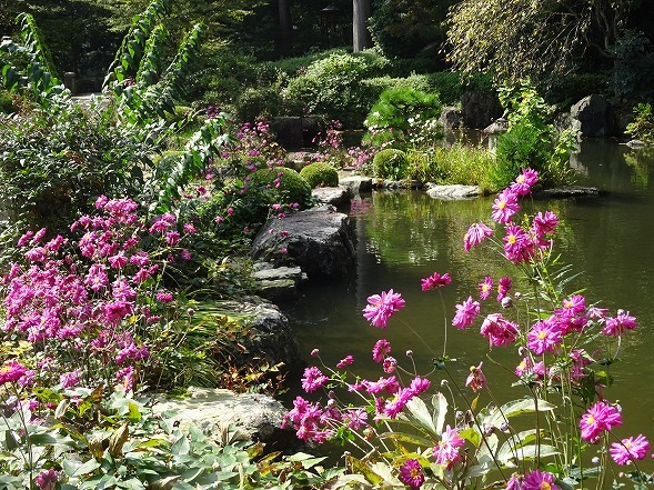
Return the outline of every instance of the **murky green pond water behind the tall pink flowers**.
{"type": "MultiPolygon", "coordinates": [[[[612,141],[591,141],[582,144],[573,166],[576,182],[597,187],[598,198],[524,201],[523,209],[550,209],[560,217],[556,250],[582,273],[570,291],[584,288],[587,302],[600,302],[613,314],[622,308],[638,319],[638,328],[624,336],[621,362],[611,367],[615,383],[605,397],[620,400],[623,407],[621,436],[643,432],[654,443],[654,158],[612,141]]],[[[351,280],[311,286],[299,301],[283,308],[306,362],[315,361],[310,357],[313,348],[332,367],[352,354],[356,373],[378,379],[384,374],[372,362],[371,349],[385,338],[401,364],[409,367],[405,351],[411,349],[417,371],[426,373],[432,359],[443,351],[447,326],[447,353],[456,359],[450,369],[461,383],[471,366],[484,361],[497,398],[525,394],[521,388],[511,388],[515,380],[511,372],[520,361],[516,348],[494,348],[490,356],[495,364],[486,358],[489,344],[479,333],[480,319],[465,331],[450,326],[454,306],[467,296],[476,298],[476,284],[484,276],[496,280],[515,274],[496,254],[463,251],[467,227],[482,219],[489,222],[492,201],[493,197],[445,202],[422,192],[381,191],[355,201],[351,220],[358,264],[351,280]],[[453,278],[450,287],[441,289],[444,309],[439,292],[421,291],[420,279],[434,271],[453,278]],[[370,327],[361,316],[366,298],[391,288],[402,293],[406,307],[391,319],[388,330],[370,327]]],[[[485,304],[482,314],[497,310],[496,303],[485,304]]],[[[437,387],[442,378],[442,371],[433,372],[432,386],[437,387]]],[[[291,390],[289,406],[294,392],[299,391],[291,390]]],[[[480,402],[490,399],[482,394],[480,402]]],[[[650,459],[645,469],[652,466],[650,459]]]]}

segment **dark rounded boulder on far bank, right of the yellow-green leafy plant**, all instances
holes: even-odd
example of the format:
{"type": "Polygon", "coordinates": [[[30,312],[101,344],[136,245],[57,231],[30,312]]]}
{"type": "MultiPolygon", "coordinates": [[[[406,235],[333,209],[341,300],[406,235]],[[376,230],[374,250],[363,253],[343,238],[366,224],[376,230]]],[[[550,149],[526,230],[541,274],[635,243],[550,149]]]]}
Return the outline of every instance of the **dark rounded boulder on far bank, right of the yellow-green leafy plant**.
{"type": "Polygon", "coordinates": [[[611,103],[602,96],[584,97],[570,109],[572,128],[582,137],[608,138],[617,134],[617,120],[611,103]]]}

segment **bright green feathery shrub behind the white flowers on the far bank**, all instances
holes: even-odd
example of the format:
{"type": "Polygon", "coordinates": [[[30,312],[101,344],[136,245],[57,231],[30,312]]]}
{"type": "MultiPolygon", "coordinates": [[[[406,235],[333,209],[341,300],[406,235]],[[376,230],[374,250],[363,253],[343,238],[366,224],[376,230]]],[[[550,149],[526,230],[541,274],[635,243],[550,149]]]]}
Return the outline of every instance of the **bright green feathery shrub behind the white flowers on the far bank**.
{"type": "Polygon", "coordinates": [[[390,139],[403,146],[410,130],[410,119],[439,118],[441,110],[442,104],[436,93],[411,88],[385,90],[365,118],[369,134],[364,139],[373,146],[390,139]]]}

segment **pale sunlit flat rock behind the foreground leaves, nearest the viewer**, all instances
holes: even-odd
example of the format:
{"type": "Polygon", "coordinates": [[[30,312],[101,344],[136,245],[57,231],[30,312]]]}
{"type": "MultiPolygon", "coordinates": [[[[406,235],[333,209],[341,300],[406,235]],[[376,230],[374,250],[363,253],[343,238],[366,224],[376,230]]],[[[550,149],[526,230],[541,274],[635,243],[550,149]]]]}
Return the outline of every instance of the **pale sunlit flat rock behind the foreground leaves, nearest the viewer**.
{"type": "Polygon", "coordinates": [[[179,399],[159,398],[152,410],[155,414],[170,416],[182,430],[193,427],[214,437],[229,426],[244,441],[273,443],[284,438],[290,440],[292,436],[290,430],[281,429],[286,409],[266,394],[194,387],[189,388],[189,394],[179,399]]]}

